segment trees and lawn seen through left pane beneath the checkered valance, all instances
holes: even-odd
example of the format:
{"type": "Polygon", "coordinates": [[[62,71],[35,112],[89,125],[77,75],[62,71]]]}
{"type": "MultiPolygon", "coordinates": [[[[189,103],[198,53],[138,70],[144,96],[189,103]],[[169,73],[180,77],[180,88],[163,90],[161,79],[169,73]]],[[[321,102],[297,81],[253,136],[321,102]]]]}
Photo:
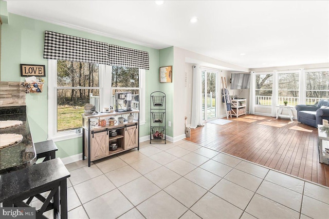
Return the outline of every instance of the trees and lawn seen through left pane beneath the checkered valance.
{"type": "Polygon", "coordinates": [[[90,95],[99,98],[99,64],[57,61],[57,132],[81,127],[90,95]]]}

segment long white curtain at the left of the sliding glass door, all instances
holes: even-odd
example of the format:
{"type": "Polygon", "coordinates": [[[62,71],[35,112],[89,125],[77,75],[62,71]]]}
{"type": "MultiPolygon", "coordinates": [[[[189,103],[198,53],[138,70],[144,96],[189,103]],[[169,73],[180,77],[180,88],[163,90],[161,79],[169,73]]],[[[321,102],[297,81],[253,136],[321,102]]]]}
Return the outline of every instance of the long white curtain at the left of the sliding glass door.
{"type": "Polygon", "coordinates": [[[193,92],[191,128],[203,126],[202,121],[202,77],[200,66],[193,66],[193,92]]]}

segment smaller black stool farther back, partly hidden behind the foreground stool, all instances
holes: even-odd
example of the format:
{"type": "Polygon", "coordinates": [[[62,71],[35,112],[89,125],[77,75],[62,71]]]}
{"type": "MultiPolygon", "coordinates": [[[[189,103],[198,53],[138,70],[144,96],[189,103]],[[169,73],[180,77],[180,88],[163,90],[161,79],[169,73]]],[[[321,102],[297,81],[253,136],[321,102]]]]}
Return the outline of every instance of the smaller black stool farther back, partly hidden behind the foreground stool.
{"type": "Polygon", "coordinates": [[[43,162],[56,158],[57,146],[52,140],[34,143],[36,160],[45,157],[43,162]]]}

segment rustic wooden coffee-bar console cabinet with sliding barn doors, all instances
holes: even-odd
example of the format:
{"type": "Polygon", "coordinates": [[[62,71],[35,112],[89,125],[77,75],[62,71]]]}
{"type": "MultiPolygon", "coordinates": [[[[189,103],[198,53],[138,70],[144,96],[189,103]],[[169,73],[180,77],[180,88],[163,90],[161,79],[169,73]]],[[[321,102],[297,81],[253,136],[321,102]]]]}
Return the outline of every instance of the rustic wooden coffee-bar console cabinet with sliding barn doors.
{"type": "Polygon", "coordinates": [[[88,166],[90,162],[99,160],[113,154],[117,154],[126,150],[137,148],[139,150],[139,111],[133,110],[129,112],[113,112],[113,113],[98,113],[98,114],[82,114],[82,158],[88,158],[88,166]],[[119,116],[126,117],[132,113],[134,120],[131,123],[125,121],[123,124],[116,123],[114,126],[109,126],[106,123],[105,127],[97,126],[90,127],[90,121],[108,120],[109,117],[115,117],[118,120],[119,116]],[[111,131],[115,130],[117,135],[112,137],[111,131]],[[117,143],[118,149],[109,150],[111,143],[117,143]]]}

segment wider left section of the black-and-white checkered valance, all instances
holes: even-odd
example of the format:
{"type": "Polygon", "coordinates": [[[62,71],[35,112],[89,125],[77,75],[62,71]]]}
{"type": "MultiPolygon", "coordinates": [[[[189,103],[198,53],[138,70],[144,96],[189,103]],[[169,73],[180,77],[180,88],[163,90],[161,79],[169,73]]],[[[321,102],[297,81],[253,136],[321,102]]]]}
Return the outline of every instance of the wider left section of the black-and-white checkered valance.
{"type": "Polygon", "coordinates": [[[43,57],[108,65],[108,44],[45,31],[43,57]]]}

